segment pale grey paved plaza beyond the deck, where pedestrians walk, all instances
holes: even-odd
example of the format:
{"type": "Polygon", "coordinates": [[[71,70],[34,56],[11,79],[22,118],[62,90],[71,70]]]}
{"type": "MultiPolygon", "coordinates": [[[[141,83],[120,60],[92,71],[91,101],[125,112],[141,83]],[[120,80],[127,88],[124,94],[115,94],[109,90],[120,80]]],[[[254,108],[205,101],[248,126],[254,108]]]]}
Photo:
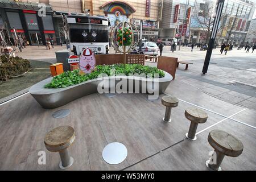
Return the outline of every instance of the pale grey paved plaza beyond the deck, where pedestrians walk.
{"type": "MultiPolygon", "coordinates": [[[[65,45],[55,46],[46,50],[44,46],[30,46],[18,53],[24,59],[48,61],[56,63],[55,51],[65,49],[65,45]]],[[[180,47],[180,51],[170,51],[170,46],[165,46],[163,56],[177,57],[178,60],[193,63],[188,70],[180,64],[176,70],[176,79],[195,86],[195,88],[216,97],[222,101],[240,105],[256,110],[256,52],[246,53],[244,49],[233,48],[227,55],[221,55],[220,48],[213,49],[208,73],[202,75],[204,58],[207,51],[200,51],[190,47],[180,47]]],[[[114,50],[110,48],[110,53],[114,50]]],[[[156,63],[146,61],[152,67],[156,63]]]]}

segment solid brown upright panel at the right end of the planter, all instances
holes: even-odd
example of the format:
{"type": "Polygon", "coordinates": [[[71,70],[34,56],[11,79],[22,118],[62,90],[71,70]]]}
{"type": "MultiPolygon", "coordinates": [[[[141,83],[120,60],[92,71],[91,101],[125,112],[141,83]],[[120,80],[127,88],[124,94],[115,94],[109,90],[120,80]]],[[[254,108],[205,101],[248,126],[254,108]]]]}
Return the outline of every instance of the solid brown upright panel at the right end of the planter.
{"type": "Polygon", "coordinates": [[[175,78],[176,68],[177,68],[177,58],[158,56],[158,69],[162,69],[167,73],[170,73],[173,78],[175,78]]]}

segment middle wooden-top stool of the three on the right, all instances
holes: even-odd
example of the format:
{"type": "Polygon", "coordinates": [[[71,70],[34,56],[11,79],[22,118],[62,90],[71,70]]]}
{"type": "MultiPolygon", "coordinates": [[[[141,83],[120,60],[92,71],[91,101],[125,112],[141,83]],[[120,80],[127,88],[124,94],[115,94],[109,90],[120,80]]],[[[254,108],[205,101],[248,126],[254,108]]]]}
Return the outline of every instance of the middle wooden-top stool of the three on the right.
{"type": "Polygon", "coordinates": [[[196,140],[197,125],[198,123],[205,123],[207,121],[208,114],[199,108],[189,107],[185,110],[185,117],[191,121],[188,133],[185,135],[190,140],[196,140]]]}

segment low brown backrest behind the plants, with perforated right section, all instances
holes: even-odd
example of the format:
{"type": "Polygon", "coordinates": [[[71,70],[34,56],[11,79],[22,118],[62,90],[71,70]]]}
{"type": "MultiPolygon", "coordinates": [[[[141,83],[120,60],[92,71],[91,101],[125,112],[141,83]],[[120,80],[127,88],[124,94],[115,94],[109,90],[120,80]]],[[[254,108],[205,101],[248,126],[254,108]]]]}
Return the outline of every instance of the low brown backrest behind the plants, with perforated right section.
{"type": "MultiPolygon", "coordinates": [[[[96,59],[96,65],[104,64],[120,64],[123,63],[123,54],[108,54],[108,55],[94,55],[96,59]]],[[[144,65],[145,55],[127,54],[127,64],[142,64],[144,65]]]]}

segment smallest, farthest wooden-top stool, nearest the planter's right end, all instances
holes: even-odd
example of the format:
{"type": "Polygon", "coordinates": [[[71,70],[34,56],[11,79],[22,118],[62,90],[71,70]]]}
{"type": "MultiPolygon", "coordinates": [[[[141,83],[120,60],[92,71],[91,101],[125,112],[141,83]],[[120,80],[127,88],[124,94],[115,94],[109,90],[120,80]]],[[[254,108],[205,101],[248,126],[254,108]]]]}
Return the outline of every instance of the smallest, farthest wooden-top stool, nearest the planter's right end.
{"type": "Polygon", "coordinates": [[[171,111],[172,107],[177,107],[179,105],[179,100],[174,96],[163,96],[162,97],[162,104],[166,106],[166,114],[164,114],[163,121],[164,122],[171,122],[171,111]]]}

